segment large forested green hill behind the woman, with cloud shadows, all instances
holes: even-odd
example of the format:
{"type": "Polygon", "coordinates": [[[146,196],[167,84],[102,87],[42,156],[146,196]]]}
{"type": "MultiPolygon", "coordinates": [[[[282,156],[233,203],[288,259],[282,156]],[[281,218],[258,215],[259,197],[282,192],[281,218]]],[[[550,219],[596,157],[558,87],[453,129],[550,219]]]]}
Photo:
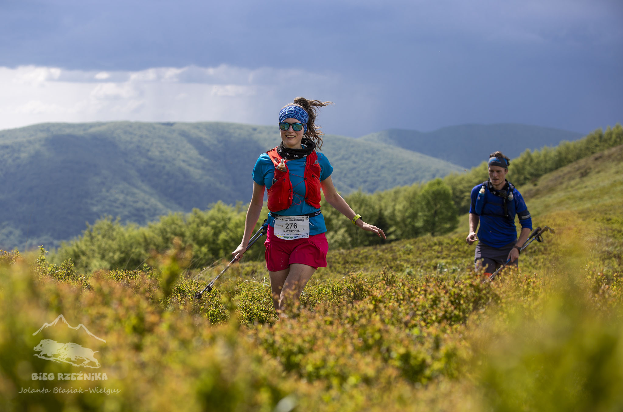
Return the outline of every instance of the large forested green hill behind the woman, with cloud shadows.
{"type": "MultiPolygon", "coordinates": [[[[257,157],[273,126],[234,123],[37,124],[0,131],[0,249],[82,233],[104,215],[145,224],[169,211],[249,202],[257,157]]],[[[325,136],[340,192],[412,184],[462,170],[374,141],[325,136]]]]}

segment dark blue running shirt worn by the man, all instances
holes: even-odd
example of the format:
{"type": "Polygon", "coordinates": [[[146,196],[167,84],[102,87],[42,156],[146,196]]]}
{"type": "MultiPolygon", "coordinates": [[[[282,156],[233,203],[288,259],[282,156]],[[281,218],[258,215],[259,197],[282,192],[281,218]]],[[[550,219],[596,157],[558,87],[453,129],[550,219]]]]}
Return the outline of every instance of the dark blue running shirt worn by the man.
{"type": "MultiPolygon", "coordinates": [[[[472,204],[469,212],[476,213],[476,199],[482,183],[472,189],[472,204]]],[[[515,202],[515,213],[519,216],[521,228],[532,229],[532,218],[526,202],[521,197],[519,190],[513,189],[513,201],[515,202]]],[[[478,241],[481,241],[492,248],[501,248],[517,240],[517,228],[515,227],[515,216],[513,220],[504,215],[504,199],[490,192],[488,185],[485,184],[485,205],[480,215],[480,228],[478,228],[478,241]]]]}

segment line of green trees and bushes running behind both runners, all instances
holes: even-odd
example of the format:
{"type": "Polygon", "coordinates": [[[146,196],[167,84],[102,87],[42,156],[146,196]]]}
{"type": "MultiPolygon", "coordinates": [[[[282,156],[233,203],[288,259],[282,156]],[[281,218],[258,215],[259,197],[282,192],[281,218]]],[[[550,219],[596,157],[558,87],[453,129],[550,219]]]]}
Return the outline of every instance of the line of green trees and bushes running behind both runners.
{"type": "MultiPolygon", "coordinates": [[[[597,129],[582,139],[563,142],[556,147],[526,150],[512,159],[508,180],[515,185],[532,182],[544,174],[566,166],[610,147],[623,144],[623,127],[617,124],[606,131],[597,129]]],[[[491,151],[494,151],[492,148],[491,151]]],[[[468,212],[470,191],[487,180],[487,162],[464,173],[453,173],[444,179],[395,187],[365,194],[359,190],[345,196],[346,202],[366,222],[381,227],[388,240],[443,235],[454,230],[459,216],[468,212]]],[[[378,236],[354,227],[340,212],[323,199],[327,238],[332,248],[353,248],[382,243],[378,236]]],[[[104,217],[72,241],[63,243],[52,261],[72,260],[75,268],[85,273],[96,269],[135,269],[148,265],[150,257],[171,247],[174,238],[193,250],[191,267],[200,268],[222,258],[229,258],[242,238],[246,207],[241,203],[217,202],[208,210],[169,213],[146,226],[121,223],[104,217]]],[[[266,206],[262,216],[267,215],[266,206]]],[[[257,224],[259,228],[262,220],[257,224]]],[[[247,259],[260,259],[264,245],[254,246],[247,259]]]]}

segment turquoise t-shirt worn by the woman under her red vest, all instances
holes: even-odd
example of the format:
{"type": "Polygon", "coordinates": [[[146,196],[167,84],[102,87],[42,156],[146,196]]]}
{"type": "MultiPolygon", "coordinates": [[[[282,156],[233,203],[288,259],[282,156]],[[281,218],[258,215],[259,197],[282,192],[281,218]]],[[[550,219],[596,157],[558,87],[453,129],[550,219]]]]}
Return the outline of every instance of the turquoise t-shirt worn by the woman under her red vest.
{"type": "MultiPolygon", "coordinates": [[[[320,164],[320,180],[325,180],[333,173],[333,166],[329,163],[326,156],[320,152],[318,155],[318,164],[320,164]]],[[[290,171],[290,182],[292,182],[292,206],[284,210],[279,210],[278,214],[282,216],[301,216],[308,213],[316,212],[317,208],[305,203],[305,181],[303,174],[305,173],[305,164],[307,156],[302,159],[292,159],[287,161],[288,170],[290,171]]],[[[251,174],[255,183],[265,185],[266,189],[272,186],[272,179],[275,177],[275,164],[270,160],[270,156],[262,153],[255,162],[255,167],[251,174]]],[[[275,226],[275,218],[269,214],[269,225],[275,226]]],[[[318,216],[310,217],[310,236],[319,235],[326,232],[325,218],[322,213],[318,216]]]]}

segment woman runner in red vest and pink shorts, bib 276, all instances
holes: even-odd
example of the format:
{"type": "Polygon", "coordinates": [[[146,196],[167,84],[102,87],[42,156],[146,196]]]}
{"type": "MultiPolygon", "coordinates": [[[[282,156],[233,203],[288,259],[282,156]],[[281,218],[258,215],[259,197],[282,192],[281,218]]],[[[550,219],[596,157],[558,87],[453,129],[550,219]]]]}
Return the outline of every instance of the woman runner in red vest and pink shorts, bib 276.
{"type": "Polygon", "coordinates": [[[316,269],[326,268],[329,246],[325,219],[320,212],[320,189],[326,202],[354,225],[386,238],[383,230],[363,222],[333,186],[333,167],[320,153],[323,133],[315,124],[316,108],[330,104],[330,101],[297,97],[279,112],[281,143],[261,154],[255,162],[253,195],[244,235],[232,252],[235,260],[242,257],[262,212],[267,188],[270,213],[265,259],[273,304],[279,316],[285,316],[283,310],[289,302],[298,301],[316,269]]]}

